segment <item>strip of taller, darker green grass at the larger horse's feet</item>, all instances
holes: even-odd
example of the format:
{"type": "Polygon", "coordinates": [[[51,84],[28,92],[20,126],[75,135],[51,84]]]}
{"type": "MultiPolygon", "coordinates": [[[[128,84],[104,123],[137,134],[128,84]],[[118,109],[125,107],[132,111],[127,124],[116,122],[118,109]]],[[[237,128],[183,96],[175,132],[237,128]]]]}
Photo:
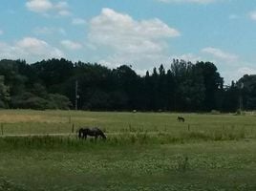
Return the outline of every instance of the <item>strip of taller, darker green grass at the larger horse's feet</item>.
{"type": "Polygon", "coordinates": [[[108,135],[107,140],[98,138],[78,139],[75,136],[29,136],[29,137],[4,137],[0,138],[0,146],[4,148],[82,148],[96,145],[131,145],[131,144],[170,144],[185,143],[190,141],[208,140],[239,140],[245,138],[245,131],[214,131],[181,132],[180,135],[172,135],[164,132],[150,134],[147,132],[120,133],[108,135]]]}

